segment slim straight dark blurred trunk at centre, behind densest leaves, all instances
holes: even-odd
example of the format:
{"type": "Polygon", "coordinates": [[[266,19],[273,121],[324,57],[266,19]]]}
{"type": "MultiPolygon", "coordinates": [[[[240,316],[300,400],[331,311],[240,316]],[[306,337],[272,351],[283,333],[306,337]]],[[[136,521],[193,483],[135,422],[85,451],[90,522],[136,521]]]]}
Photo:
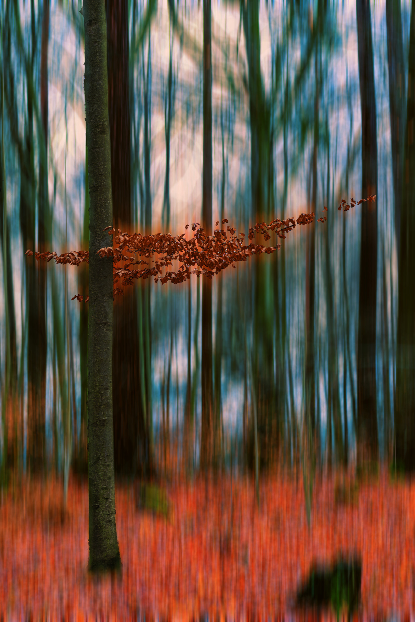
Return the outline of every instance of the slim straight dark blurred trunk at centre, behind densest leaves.
{"type": "MultiPolygon", "coordinates": [[[[202,226],[212,233],[212,29],[210,0],[203,0],[203,189],[202,226]]],[[[216,414],[215,414],[216,419],[216,414]]],[[[216,459],[213,421],[212,280],[202,277],[202,436],[200,468],[216,459]]]]}

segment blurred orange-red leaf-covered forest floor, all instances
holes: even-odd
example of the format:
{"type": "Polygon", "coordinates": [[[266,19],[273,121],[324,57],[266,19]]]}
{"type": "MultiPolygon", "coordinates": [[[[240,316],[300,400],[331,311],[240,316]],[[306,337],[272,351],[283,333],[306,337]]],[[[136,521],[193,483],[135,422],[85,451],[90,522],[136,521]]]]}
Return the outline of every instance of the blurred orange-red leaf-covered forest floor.
{"type": "Polygon", "coordinates": [[[339,554],[362,562],[355,619],[414,619],[414,483],[324,475],[310,527],[301,476],[261,480],[259,508],[248,478],[164,488],[167,516],[138,508],[137,484],[116,486],[123,570],[101,580],[86,570],[86,482],[70,479],[66,505],[62,480],[3,490],[0,620],[298,620],[310,567],[339,554]]]}

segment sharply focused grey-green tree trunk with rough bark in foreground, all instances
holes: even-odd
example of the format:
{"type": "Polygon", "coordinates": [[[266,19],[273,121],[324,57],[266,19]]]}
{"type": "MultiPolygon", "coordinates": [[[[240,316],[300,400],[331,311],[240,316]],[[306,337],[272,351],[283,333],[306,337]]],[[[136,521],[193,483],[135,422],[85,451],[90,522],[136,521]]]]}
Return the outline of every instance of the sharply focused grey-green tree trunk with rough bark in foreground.
{"type": "Polygon", "coordinates": [[[110,244],[112,225],[110,124],[105,0],[85,0],[85,110],[90,191],[88,322],[88,483],[91,571],[121,565],[115,525],[112,394],[113,262],[96,253],[110,244]]]}

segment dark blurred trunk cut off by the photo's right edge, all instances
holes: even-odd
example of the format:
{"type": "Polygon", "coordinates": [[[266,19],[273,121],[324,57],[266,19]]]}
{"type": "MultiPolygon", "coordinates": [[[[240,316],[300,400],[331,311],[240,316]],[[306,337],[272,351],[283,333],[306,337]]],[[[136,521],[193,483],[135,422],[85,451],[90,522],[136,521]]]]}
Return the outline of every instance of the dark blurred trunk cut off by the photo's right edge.
{"type": "Polygon", "coordinates": [[[408,103],[399,244],[398,336],[396,343],[395,465],[415,471],[415,2],[412,2],[408,59],[408,103]]]}

